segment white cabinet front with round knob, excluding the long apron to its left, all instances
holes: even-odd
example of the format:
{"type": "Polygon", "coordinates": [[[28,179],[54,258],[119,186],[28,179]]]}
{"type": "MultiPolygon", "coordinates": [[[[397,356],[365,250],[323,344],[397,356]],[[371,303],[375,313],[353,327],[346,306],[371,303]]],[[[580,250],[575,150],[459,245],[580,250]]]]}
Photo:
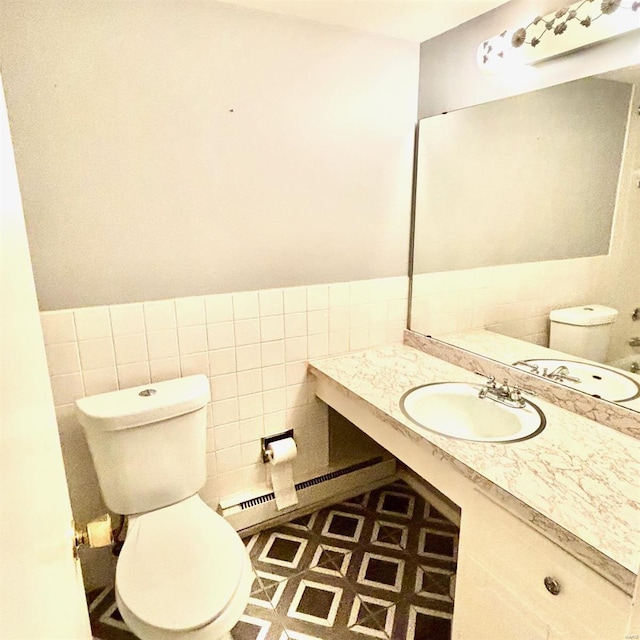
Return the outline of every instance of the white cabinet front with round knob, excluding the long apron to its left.
{"type": "Polygon", "coordinates": [[[624,638],[630,596],[474,493],[462,510],[456,640],[624,638]]]}

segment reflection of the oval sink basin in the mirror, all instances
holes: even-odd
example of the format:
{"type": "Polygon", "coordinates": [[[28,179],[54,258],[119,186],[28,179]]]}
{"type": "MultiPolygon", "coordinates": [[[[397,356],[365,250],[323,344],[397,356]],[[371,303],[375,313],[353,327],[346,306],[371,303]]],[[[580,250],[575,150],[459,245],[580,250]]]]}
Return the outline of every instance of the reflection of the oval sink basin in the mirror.
{"type": "Polygon", "coordinates": [[[610,402],[633,400],[640,395],[640,387],[638,387],[635,380],[632,380],[619,371],[614,371],[607,367],[601,367],[597,364],[589,364],[588,362],[578,362],[574,360],[540,358],[520,360],[518,363],[514,363],[514,366],[518,366],[522,371],[530,371],[530,368],[526,365],[537,365],[539,369],[537,375],[542,375],[543,369],[553,371],[557,367],[565,366],[569,369],[568,375],[572,378],[578,378],[580,382],[574,382],[572,380],[567,380],[566,378],[562,380],[555,380],[555,382],[564,384],[572,389],[577,389],[578,391],[583,391],[584,393],[588,393],[596,398],[609,400],[610,402]],[[521,366],[522,363],[525,363],[525,366],[521,366]]]}

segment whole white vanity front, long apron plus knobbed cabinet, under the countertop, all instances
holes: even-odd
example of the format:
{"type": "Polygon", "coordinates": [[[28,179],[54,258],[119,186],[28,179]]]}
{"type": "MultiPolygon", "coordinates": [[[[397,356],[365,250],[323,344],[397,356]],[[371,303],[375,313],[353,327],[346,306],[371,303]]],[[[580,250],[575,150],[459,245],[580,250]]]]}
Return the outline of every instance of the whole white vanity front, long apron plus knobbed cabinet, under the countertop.
{"type": "Polygon", "coordinates": [[[494,494],[491,482],[323,377],[316,395],[460,507],[454,640],[622,640],[630,633],[631,597],[516,515],[518,501],[507,510],[506,492],[494,494]],[[545,578],[557,583],[557,595],[545,578]]]}

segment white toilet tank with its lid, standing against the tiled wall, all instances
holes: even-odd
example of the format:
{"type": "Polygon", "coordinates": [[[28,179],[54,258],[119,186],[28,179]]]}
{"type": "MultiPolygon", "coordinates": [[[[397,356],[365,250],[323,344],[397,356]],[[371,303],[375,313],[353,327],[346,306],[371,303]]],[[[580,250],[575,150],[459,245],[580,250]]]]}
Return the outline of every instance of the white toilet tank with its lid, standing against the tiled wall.
{"type": "Polygon", "coordinates": [[[76,401],[111,511],[152,511],[204,485],[209,398],[206,376],[195,375],[76,401]]]}

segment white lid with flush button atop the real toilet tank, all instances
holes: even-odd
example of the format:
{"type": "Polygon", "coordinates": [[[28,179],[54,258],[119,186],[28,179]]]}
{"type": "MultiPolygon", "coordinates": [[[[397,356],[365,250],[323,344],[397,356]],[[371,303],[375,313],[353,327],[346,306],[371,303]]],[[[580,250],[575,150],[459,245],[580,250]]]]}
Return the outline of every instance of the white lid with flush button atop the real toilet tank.
{"type": "Polygon", "coordinates": [[[209,398],[209,381],[198,374],[80,398],[76,414],[84,427],[114,431],[196,411],[209,398]]]}

